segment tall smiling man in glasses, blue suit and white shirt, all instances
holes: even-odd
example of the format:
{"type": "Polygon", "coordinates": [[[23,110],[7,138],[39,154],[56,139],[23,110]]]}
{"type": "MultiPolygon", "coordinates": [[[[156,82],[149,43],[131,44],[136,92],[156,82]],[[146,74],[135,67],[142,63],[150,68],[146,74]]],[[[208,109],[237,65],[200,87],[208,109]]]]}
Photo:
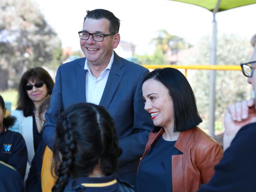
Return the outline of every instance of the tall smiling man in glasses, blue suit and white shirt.
{"type": "Polygon", "coordinates": [[[144,110],[141,91],[149,71],[113,51],[120,41],[119,26],[120,20],[108,10],[87,11],[82,31],[78,32],[85,57],[59,66],[45,114],[43,139],[52,150],[61,109],[65,111],[79,102],[100,105],[113,118],[123,151],[119,157],[119,178],[135,185],[140,157],[153,127],[144,110]]]}

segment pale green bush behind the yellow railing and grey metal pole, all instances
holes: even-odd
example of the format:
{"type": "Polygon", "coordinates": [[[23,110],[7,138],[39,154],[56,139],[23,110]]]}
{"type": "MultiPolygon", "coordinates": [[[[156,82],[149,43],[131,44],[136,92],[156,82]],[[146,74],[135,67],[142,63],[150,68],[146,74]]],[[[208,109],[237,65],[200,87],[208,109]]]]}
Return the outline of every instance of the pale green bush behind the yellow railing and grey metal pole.
{"type": "MultiPolygon", "coordinates": [[[[210,39],[202,38],[195,46],[194,54],[182,58],[183,65],[209,65],[210,39]]],[[[222,35],[217,43],[217,65],[239,65],[250,60],[252,48],[249,39],[237,35],[222,35]]],[[[188,80],[195,92],[198,111],[203,118],[202,128],[208,128],[209,71],[189,70],[188,80]]],[[[223,127],[223,118],[229,104],[249,98],[251,86],[241,71],[216,71],[215,128],[223,127]]]]}

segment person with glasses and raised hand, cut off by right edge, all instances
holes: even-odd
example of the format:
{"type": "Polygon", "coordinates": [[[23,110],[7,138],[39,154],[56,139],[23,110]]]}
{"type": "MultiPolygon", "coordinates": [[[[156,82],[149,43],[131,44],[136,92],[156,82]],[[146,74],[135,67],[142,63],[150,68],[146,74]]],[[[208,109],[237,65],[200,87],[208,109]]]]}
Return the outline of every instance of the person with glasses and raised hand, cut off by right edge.
{"type": "MultiPolygon", "coordinates": [[[[252,84],[256,94],[256,34],[251,44],[254,52],[251,62],[242,63],[243,75],[252,84]]],[[[198,192],[255,192],[256,182],[256,111],[251,98],[229,105],[224,117],[224,155],[215,174],[198,192]]]]}

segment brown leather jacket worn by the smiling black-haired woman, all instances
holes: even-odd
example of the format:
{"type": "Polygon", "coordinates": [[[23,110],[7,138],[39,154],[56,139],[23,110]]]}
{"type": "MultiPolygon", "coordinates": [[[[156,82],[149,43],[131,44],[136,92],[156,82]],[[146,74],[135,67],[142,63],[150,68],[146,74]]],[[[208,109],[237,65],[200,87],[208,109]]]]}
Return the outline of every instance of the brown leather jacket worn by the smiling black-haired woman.
{"type": "MultiPolygon", "coordinates": [[[[163,132],[162,128],[158,133],[149,134],[141,160],[163,132]]],[[[174,147],[183,155],[172,156],[173,192],[195,192],[201,184],[210,180],[223,150],[217,141],[198,127],[181,132],[174,147]]]]}

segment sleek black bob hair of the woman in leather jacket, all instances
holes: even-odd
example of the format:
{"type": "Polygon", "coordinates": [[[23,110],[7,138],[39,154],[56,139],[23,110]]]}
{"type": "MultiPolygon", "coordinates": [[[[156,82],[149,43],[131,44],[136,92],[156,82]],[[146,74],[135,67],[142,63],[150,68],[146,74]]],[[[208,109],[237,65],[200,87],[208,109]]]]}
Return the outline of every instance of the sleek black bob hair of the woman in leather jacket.
{"type": "MultiPolygon", "coordinates": [[[[175,68],[155,69],[143,80],[155,79],[162,83],[173,99],[174,129],[173,132],[181,132],[195,128],[202,122],[195,100],[195,95],[186,77],[175,68]]],[[[161,127],[155,127],[157,132],[161,127]]]]}

